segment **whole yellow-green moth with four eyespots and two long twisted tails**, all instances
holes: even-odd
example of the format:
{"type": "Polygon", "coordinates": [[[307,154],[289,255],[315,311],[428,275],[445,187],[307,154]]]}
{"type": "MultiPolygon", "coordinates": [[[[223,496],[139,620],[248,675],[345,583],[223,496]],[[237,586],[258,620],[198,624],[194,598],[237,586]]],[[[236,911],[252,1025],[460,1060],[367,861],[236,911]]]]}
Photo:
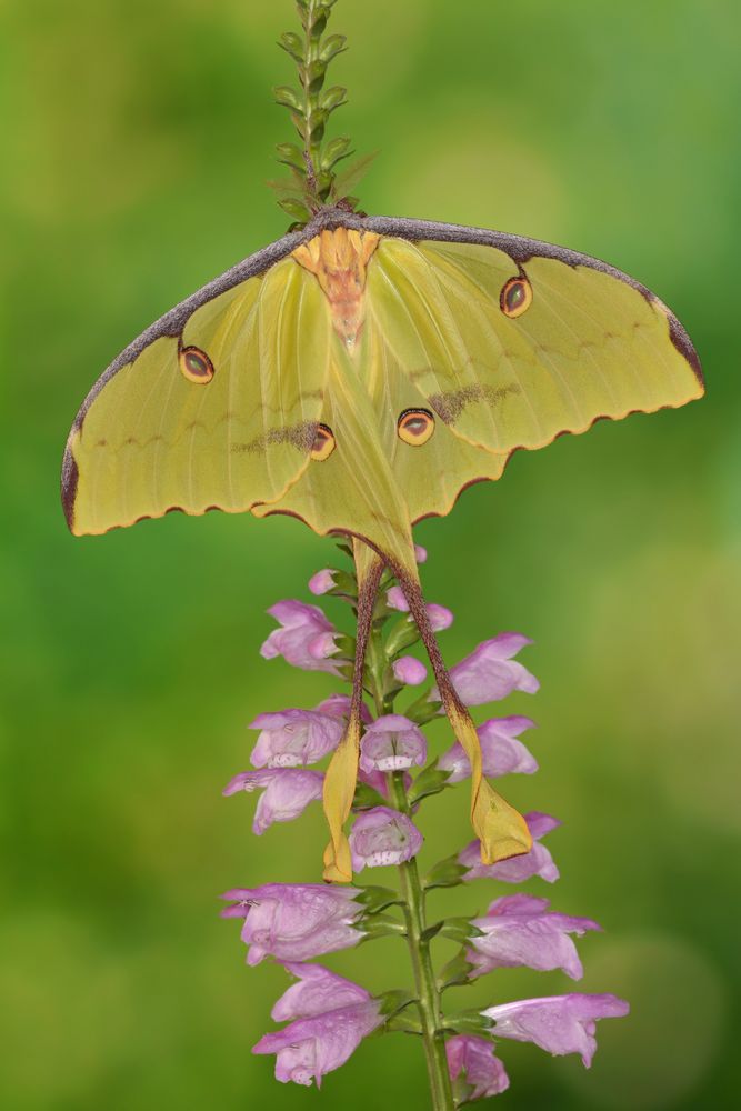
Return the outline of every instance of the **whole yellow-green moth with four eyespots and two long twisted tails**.
{"type": "Polygon", "coordinates": [[[77,536],[220,509],[288,513],[366,553],[353,715],[326,780],[329,879],[349,878],[362,623],[391,568],[471,758],[491,861],[527,851],[529,834],[481,777],[475,730],[425,629],[412,526],[499,479],[518,449],[702,393],[682,324],[613,267],[497,231],[324,207],[111,363],[72,424],[62,502],[77,536]]]}

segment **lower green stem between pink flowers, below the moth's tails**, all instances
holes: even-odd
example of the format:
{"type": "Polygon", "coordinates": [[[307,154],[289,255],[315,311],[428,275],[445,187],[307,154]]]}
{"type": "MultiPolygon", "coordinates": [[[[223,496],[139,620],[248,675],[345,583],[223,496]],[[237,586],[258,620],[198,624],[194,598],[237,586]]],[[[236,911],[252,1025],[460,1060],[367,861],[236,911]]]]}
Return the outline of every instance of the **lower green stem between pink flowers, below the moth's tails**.
{"type": "MultiPolygon", "coordinates": [[[[397,809],[409,813],[403,772],[389,775],[389,788],[397,809]]],[[[399,875],[407,918],[407,942],[422,1019],[422,1040],[432,1091],[432,1107],[434,1111],[452,1111],[454,1102],[445,1054],[440,992],[432,967],[430,942],[424,938],[427,928],[424,891],[414,858],[399,865],[399,875]]]]}

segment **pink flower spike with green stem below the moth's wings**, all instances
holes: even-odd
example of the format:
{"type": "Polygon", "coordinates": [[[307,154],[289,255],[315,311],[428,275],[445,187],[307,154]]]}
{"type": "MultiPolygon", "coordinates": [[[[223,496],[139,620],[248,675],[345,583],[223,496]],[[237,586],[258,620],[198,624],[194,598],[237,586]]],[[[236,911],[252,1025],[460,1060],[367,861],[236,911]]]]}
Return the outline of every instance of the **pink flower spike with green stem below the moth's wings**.
{"type": "MultiPolygon", "coordinates": [[[[422,562],[427,553],[418,549],[422,562]]],[[[357,598],[354,577],[337,569],[318,572],[309,583],[314,595],[330,594],[351,607],[357,598]]],[[[352,641],[340,633],[317,605],[282,601],[269,611],[279,623],[266,643],[266,659],[282,657],[303,670],[321,670],[344,679],[351,673],[352,641]]],[[[433,629],[450,627],[453,615],[442,605],[429,605],[433,629]]],[[[525,822],[531,850],[494,864],[481,861],[478,841],[434,864],[422,878],[417,858],[423,844],[418,827],[422,802],[471,777],[469,759],[459,743],[429,762],[424,727],[440,712],[437,687],[411,692],[428,677],[427,667],[410,654],[419,640],[404,595],[389,575],[381,583],[372,627],[364,687],[372,705],[363,707],[359,782],[349,842],[356,874],[364,869],[399,868],[399,889],[316,883],[268,883],[227,892],[227,918],[242,921],[241,937],[249,964],[266,957],[280,962],[296,978],[276,1003],[272,1018],[287,1023],[266,1034],[256,1053],[276,1055],[276,1077],[282,1082],[321,1083],[343,1064],[363,1038],[377,1031],[403,1030],[428,1044],[430,1080],[435,1108],[497,1095],[509,1085],[495,1055],[500,1039],[529,1041],[553,1054],[578,1053],[589,1067],[597,1049],[595,1023],[628,1012],[612,994],[578,992],[519,1000],[481,1012],[445,1014],[443,992],[471,983],[500,968],[561,970],[571,980],[582,975],[574,937],[600,929],[597,922],[551,910],[549,901],[529,894],[498,894],[483,914],[443,920],[430,927],[427,893],[477,880],[504,884],[540,877],[548,883],[559,871],[542,839],[560,822],[532,812],[525,822]],[[403,712],[397,701],[407,702],[403,712]],[[368,943],[379,937],[405,938],[415,974],[414,991],[373,997],[367,989],[321,964],[307,963],[337,950],[368,943]],[[432,967],[434,937],[460,944],[458,957],[439,973],[432,967]],[[431,987],[434,985],[434,987],[431,987]]],[[[530,641],[503,633],[479,644],[450,671],[458,695],[468,707],[505,699],[513,691],[534,693],[538,680],[515,659],[530,641]]],[[[261,791],[253,831],[263,833],[273,822],[297,819],[321,799],[322,761],[343,738],[350,698],[338,692],[310,710],[262,713],[250,728],[258,731],[251,752],[253,770],[241,772],[224,790],[261,791]]],[[[484,774],[531,775],[538,763],[521,740],[534,723],[521,715],[484,720],[478,727],[484,774]]]]}

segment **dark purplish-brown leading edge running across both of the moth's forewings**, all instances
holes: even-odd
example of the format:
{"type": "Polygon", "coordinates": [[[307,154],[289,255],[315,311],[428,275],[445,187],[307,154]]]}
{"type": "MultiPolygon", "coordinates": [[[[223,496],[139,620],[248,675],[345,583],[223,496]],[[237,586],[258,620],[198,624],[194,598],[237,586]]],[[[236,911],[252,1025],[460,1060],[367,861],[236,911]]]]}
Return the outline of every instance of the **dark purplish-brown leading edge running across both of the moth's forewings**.
{"type": "MultiPolygon", "coordinates": [[[[379,236],[392,236],[398,239],[408,239],[414,242],[427,239],[443,243],[480,243],[483,247],[494,247],[498,250],[503,251],[505,254],[509,254],[512,261],[518,266],[524,264],[533,257],[558,259],[559,262],[564,262],[570,267],[589,267],[592,270],[601,270],[603,273],[610,274],[612,278],[617,278],[619,281],[623,281],[629,286],[632,286],[633,289],[638,290],[647,299],[647,301],[652,303],[659,302],[659,298],[655,293],[652,293],[650,289],[647,289],[647,287],[642,286],[639,281],[635,281],[635,279],[631,278],[630,274],[625,274],[621,270],[617,270],[614,267],[611,267],[608,262],[602,262],[600,259],[594,259],[589,254],[581,254],[579,251],[571,251],[564,247],[557,247],[553,243],[544,243],[540,240],[527,239],[522,236],[512,236],[503,231],[491,231],[487,228],[469,228],[464,224],[435,223],[430,220],[409,220],[405,218],[384,216],[362,217],[353,212],[347,212],[343,209],[327,208],[318,212],[313,220],[301,231],[283,236],[282,239],[277,240],[274,243],[270,243],[268,247],[262,248],[262,250],[257,251],[254,254],[250,254],[249,258],[244,259],[242,262],[238,262],[237,266],[227,270],[218,278],[214,278],[213,281],[203,286],[196,293],[192,293],[184,301],[181,301],[180,304],[177,304],[173,309],[170,309],[169,312],[166,312],[164,316],[160,317],[159,320],[156,320],[153,324],[150,324],[150,327],[147,328],[141,336],[137,337],[133,342],[129,343],[129,346],[123,349],[118,358],[113,360],[113,362],[103,371],[98,381],[94,383],[78,410],[77,417],[72,422],[70,437],[82,427],[90,406],[96,400],[106,383],[109,382],[122,367],[127,367],[130,362],[132,362],[146,347],[159,339],[161,336],[180,336],[189,317],[196,311],[196,309],[200,309],[200,307],[206,304],[207,301],[211,301],[214,297],[226,293],[227,290],[232,289],[240,282],[247,281],[248,278],[254,278],[257,274],[264,273],[266,270],[269,270],[276,262],[280,262],[281,259],[284,259],[291,253],[291,251],[296,250],[297,247],[300,247],[302,243],[307,243],[309,240],[313,239],[320,231],[333,228],[350,228],[356,231],[374,231],[379,236]]],[[[669,336],[672,343],[680,354],[688,361],[700,384],[704,387],[700,359],[698,358],[698,353],[694,350],[690,337],[673,312],[667,309],[663,302],[659,303],[662,304],[662,308],[667,312],[669,321],[669,336]]],[[[67,523],[70,529],[72,528],[74,513],[77,484],[78,469],[69,449],[68,438],[68,444],[64,449],[64,457],[62,460],[61,496],[64,517],[67,518],[67,523]]]]}

